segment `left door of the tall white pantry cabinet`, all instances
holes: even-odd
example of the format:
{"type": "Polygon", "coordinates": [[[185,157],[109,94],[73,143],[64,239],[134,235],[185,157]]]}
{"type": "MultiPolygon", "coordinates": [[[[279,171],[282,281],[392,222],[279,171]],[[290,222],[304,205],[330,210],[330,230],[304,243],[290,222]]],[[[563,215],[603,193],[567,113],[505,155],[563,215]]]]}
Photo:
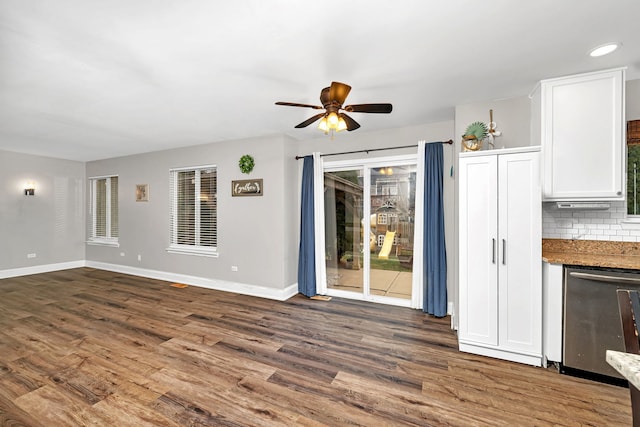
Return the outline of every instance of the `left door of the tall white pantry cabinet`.
{"type": "Polygon", "coordinates": [[[461,341],[498,344],[497,157],[460,159],[461,341]]]}

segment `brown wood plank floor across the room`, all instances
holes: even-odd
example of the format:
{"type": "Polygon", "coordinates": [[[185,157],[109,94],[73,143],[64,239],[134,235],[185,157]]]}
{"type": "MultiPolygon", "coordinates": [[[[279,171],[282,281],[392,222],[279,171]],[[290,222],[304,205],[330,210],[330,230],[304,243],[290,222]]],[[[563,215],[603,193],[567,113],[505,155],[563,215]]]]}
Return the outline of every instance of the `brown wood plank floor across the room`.
{"type": "Polygon", "coordinates": [[[89,268],[4,279],[0,423],[631,425],[627,389],[460,353],[449,323],[89,268]]]}

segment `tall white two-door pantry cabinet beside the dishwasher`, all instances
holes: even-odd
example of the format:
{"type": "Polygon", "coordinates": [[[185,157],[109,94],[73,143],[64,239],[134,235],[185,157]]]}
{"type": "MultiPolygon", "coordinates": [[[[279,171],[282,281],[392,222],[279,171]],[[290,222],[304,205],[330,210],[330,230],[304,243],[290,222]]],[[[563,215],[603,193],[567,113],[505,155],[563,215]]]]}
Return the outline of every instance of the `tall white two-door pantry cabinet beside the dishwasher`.
{"type": "Polygon", "coordinates": [[[460,154],[460,351],[542,364],[540,149],[460,154]]]}

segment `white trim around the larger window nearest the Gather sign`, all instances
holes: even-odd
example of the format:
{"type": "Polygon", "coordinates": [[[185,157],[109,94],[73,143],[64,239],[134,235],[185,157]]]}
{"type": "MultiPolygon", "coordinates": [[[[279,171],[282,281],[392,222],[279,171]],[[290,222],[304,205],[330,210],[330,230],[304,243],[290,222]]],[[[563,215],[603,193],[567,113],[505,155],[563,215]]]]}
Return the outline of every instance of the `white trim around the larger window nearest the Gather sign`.
{"type": "MultiPolygon", "coordinates": [[[[216,199],[218,195],[218,167],[215,164],[209,165],[201,165],[201,166],[187,166],[187,167],[179,167],[179,168],[171,168],[169,169],[169,246],[166,248],[168,253],[173,254],[183,254],[183,255],[196,255],[196,256],[204,256],[210,258],[218,258],[220,255],[218,253],[218,236],[217,236],[217,212],[218,206],[216,203],[216,246],[201,246],[201,245],[185,245],[180,243],[172,243],[177,241],[177,221],[178,221],[178,204],[176,203],[177,197],[177,187],[178,187],[178,172],[188,172],[188,171],[203,171],[206,169],[213,169],[216,173],[216,199]]],[[[194,200],[199,199],[200,194],[200,178],[198,174],[198,178],[195,182],[195,198],[194,200]]],[[[196,217],[198,218],[195,224],[196,230],[195,234],[197,239],[199,240],[200,236],[200,203],[195,203],[194,206],[196,217]]]]}

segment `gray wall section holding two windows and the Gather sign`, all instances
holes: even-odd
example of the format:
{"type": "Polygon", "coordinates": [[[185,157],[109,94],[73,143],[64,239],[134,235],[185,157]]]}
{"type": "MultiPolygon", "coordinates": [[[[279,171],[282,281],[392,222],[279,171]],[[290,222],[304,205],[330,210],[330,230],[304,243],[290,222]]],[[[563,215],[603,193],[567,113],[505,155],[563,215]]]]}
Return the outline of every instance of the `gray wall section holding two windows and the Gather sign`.
{"type": "Polygon", "coordinates": [[[87,163],[87,177],[119,176],[120,226],[120,247],[87,246],[87,260],[276,289],[294,284],[297,163],[292,145],[289,138],[273,136],[87,163]],[[255,159],[250,175],[238,168],[244,154],[255,159]],[[169,170],[208,164],[218,169],[220,256],[168,253],[169,170]],[[249,177],[264,180],[264,195],[231,197],[231,181],[249,177]],[[148,202],[135,201],[136,184],[149,184],[148,202]]]}

